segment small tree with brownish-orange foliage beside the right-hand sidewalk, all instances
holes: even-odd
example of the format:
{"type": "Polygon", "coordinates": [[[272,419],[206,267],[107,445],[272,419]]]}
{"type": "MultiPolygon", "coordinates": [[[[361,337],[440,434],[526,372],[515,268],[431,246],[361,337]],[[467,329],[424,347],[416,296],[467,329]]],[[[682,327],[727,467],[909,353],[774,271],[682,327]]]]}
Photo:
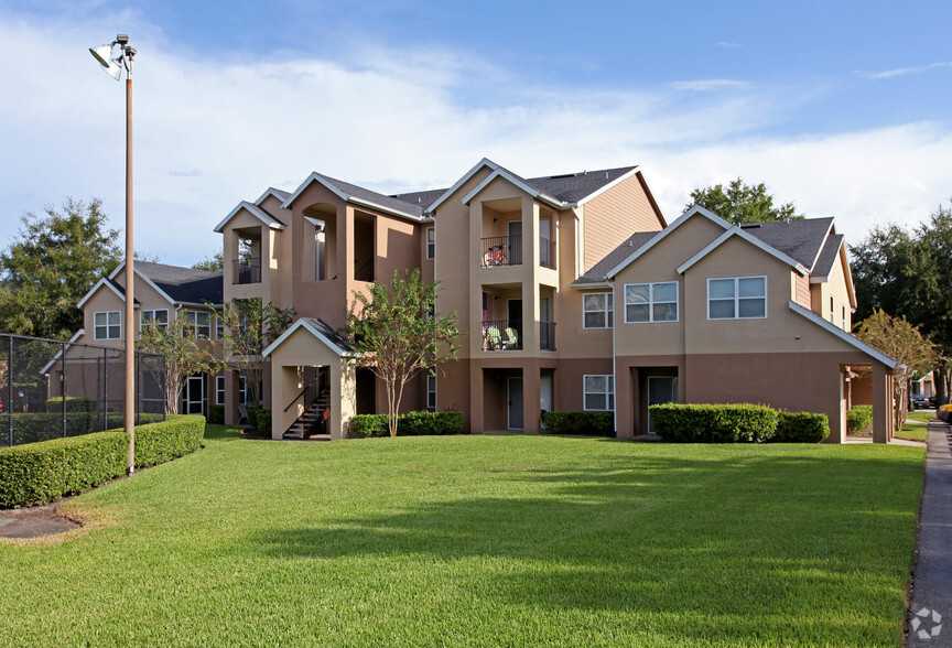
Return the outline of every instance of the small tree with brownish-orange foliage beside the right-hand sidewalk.
{"type": "Polygon", "coordinates": [[[922,337],[918,326],[905,317],[892,317],[879,310],[859,323],[856,337],[879,349],[900,366],[892,370],[892,398],[896,403],[896,430],[902,426],[908,411],[909,380],[932,369],[935,345],[922,337]]]}

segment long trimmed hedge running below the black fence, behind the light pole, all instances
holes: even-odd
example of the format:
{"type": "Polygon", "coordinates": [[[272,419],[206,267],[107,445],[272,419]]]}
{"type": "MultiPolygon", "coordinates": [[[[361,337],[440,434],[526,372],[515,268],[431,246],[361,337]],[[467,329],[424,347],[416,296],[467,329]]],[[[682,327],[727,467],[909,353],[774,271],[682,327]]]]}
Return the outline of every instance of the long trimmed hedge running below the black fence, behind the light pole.
{"type": "MultiPolygon", "coordinates": [[[[152,466],[193,452],[204,434],[202,417],[180,414],[140,425],[136,428],[136,466],[152,466]]],[[[122,430],[2,449],[0,508],[47,504],[125,475],[128,453],[129,438],[122,430]]]]}

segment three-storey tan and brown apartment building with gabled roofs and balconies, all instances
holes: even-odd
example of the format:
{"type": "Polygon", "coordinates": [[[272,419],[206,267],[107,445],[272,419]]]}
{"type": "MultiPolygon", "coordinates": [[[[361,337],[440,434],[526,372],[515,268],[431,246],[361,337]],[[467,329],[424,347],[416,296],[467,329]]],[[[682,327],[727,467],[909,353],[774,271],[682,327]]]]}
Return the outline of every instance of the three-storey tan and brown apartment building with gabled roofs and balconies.
{"type": "MultiPolygon", "coordinates": [[[[224,300],[300,316],[266,349],[274,438],[315,408],[332,438],[386,411],[335,331],[354,291],[411,268],[441,282],[437,310],[467,335],[409,387],[408,410],[459,410],[476,433],[613,410],[630,438],[651,432],[653,402],[762,402],[826,413],[836,442],[865,369],[876,439],[891,434],[895,363],[848,333],[855,295],[830,218],[737,227],[695,207],[669,226],[637,166],[523,179],[484,159],[451,187],[399,195],[312,173],[216,231],[224,300]]],[[[238,398],[229,381],[226,422],[238,398]]]]}

